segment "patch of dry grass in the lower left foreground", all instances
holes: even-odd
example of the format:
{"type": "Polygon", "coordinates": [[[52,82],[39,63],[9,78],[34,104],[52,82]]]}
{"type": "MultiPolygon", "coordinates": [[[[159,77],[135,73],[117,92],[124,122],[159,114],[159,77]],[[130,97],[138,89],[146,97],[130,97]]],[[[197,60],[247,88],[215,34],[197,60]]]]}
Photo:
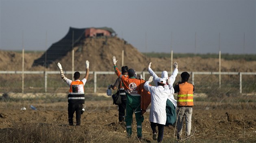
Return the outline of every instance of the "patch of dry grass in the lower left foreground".
{"type": "Polygon", "coordinates": [[[136,142],[119,132],[109,132],[102,126],[68,126],[63,124],[20,122],[0,130],[0,142],[6,143],[121,143],[136,142]]]}

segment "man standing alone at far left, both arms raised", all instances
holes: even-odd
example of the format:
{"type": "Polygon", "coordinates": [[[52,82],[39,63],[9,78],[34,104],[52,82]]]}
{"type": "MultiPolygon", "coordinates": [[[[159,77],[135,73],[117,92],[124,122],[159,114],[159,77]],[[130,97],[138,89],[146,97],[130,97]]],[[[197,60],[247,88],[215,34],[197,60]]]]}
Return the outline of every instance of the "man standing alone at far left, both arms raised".
{"type": "Polygon", "coordinates": [[[81,124],[81,114],[83,113],[83,105],[85,103],[85,83],[88,79],[89,76],[89,61],[85,62],[86,66],[86,74],[85,77],[80,80],[80,73],[76,71],[74,73],[74,81],[69,80],[68,78],[65,77],[63,73],[63,69],[61,66],[61,63],[57,63],[60,73],[61,73],[61,78],[70,86],[69,88],[69,94],[67,96],[68,98],[68,122],[70,126],[73,126],[73,117],[74,117],[74,112],[76,112],[76,126],[80,126],[81,124]]]}

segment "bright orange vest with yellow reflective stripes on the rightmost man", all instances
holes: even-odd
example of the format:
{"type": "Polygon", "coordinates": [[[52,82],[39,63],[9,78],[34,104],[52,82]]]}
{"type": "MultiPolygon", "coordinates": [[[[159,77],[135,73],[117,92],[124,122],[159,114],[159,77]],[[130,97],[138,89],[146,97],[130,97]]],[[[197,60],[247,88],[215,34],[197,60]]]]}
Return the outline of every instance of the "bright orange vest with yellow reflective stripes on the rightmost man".
{"type": "Polygon", "coordinates": [[[177,105],[178,106],[193,106],[193,84],[184,82],[179,84],[180,91],[178,92],[177,105]]]}

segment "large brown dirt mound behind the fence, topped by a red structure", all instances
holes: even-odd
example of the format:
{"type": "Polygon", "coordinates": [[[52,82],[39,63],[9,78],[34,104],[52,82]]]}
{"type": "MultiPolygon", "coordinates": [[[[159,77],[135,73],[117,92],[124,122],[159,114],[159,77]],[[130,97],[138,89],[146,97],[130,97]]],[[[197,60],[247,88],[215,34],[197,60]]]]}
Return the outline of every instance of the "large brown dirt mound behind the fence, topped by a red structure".
{"type": "MultiPolygon", "coordinates": [[[[117,66],[121,69],[121,54],[124,49],[124,65],[134,68],[137,71],[143,70],[148,64],[149,58],[141,54],[131,44],[124,44],[124,40],[113,37],[100,39],[86,39],[82,45],[74,48],[74,69],[85,70],[85,61],[89,60],[91,71],[113,71],[112,57],[115,56],[117,66]]],[[[72,51],[67,53],[60,61],[63,69],[72,70],[72,51]]],[[[56,64],[50,65],[50,68],[56,68],[56,64]]]]}

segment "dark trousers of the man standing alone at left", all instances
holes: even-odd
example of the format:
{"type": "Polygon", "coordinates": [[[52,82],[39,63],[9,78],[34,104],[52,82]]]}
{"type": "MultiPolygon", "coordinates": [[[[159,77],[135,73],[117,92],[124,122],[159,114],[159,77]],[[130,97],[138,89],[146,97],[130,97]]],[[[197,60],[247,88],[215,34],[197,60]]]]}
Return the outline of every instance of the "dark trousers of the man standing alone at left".
{"type": "Polygon", "coordinates": [[[67,107],[68,111],[68,122],[70,126],[73,126],[73,117],[76,111],[76,126],[80,126],[81,124],[81,111],[82,111],[82,104],[68,104],[67,107]]]}

